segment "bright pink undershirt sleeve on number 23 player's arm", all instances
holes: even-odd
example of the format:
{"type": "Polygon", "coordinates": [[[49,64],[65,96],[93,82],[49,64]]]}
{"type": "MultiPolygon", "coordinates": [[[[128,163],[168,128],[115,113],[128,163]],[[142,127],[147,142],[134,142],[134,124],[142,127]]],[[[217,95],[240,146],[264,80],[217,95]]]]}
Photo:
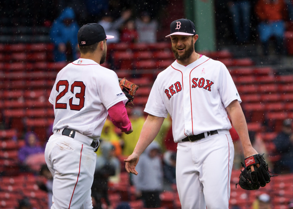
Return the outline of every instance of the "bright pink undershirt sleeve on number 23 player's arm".
{"type": "Polygon", "coordinates": [[[108,113],[112,123],[124,132],[128,132],[131,129],[131,122],[128,119],[128,115],[125,109],[124,103],[118,102],[108,109],[108,113]]]}

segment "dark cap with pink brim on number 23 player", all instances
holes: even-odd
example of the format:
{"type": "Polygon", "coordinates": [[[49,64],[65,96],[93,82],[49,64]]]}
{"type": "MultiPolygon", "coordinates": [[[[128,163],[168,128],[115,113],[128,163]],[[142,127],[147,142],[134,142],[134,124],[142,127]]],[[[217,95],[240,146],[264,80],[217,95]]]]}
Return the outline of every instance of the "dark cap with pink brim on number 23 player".
{"type": "Polygon", "coordinates": [[[102,25],[97,23],[88,23],[83,25],[77,33],[77,42],[79,46],[88,46],[104,39],[112,39],[114,36],[106,35],[102,25]]]}

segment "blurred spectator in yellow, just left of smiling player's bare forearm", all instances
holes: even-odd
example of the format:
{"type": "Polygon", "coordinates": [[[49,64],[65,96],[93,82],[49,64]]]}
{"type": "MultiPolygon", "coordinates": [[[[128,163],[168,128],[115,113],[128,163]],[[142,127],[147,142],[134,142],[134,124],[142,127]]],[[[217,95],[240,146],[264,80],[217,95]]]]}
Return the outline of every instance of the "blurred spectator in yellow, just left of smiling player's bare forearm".
{"type": "Polygon", "coordinates": [[[131,134],[123,133],[122,135],[124,140],[123,155],[126,156],[132,154],[141,133],[142,126],[144,125],[145,118],[143,116],[143,110],[140,107],[133,108],[129,120],[131,121],[133,132],[131,134]]]}

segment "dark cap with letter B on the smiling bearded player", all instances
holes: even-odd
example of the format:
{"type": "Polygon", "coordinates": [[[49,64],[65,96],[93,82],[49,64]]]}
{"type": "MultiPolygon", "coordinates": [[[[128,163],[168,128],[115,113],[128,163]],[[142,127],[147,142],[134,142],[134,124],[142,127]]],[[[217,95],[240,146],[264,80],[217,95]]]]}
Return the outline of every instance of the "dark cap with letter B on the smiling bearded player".
{"type": "Polygon", "coordinates": [[[196,35],[195,26],[192,21],[189,19],[178,19],[170,24],[171,34],[172,35],[183,35],[183,36],[193,36],[196,35]]]}

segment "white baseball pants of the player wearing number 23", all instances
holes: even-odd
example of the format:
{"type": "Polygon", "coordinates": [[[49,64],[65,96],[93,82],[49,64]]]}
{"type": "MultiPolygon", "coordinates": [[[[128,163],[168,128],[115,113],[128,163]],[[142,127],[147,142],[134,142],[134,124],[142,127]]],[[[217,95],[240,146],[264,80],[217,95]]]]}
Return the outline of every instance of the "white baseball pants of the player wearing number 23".
{"type": "Polygon", "coordinates": [[[49,138],[45,160],[54,177],[51,209],[93,208],[91,185],[97,155],[91,142],[91,138],[77,132],[74,139],[64,136],[62,129],[49,138]]]}

